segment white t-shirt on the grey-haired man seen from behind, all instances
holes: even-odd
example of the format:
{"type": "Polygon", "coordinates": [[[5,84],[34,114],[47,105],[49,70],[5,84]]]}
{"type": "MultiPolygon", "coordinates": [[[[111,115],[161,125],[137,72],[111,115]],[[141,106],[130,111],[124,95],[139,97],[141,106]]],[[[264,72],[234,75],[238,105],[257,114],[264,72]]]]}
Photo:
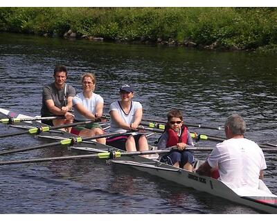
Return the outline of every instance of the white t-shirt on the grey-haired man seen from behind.
{"type": "Polygon", "coordinates": [[[232,189],[258,188],[260,170],[267,169],[260,146],[246,138],[232,138],[217,144],[207,161],[212,168],[218,166],[220,180],[232,189]]]}

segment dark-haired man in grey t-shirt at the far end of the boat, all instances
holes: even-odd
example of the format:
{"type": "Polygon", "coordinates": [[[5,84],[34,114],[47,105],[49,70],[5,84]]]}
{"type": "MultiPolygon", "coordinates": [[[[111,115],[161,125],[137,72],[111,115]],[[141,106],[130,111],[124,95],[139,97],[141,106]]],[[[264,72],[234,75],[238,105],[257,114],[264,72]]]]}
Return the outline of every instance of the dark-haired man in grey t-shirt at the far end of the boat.
{"type": "Polygon", "coordinates": [[[61,125],[73,122],[73,115],[69,113],[72,108],[72,99],[75,96],[73,86],[65,84],[67,69],[65,66],[56,66],[54,70],[55,81],[44,86],[42,91],[42,117],[64,116],[65,119],[44,120],[44,124],[61,125]]]}

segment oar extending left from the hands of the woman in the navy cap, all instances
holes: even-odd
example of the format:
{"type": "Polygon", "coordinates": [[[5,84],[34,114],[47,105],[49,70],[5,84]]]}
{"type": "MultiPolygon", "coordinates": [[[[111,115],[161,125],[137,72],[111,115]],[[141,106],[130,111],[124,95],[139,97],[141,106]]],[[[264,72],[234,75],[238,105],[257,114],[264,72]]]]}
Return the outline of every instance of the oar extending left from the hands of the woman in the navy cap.
{"type": "Polygon", "coordinates": [[[98,139],[98,138],[117,136],[117,135],[122,135],[123,133],[129,133],[129,132],[127,131],[127,132],[105,133],[102,135],[95,135],[92,137],[72,137],[72,138],[67,138],[64,140],[57,141],[57,142],[53,142],[51,144],[42,144],[42,145],[30,146],[30,147],[26,147],[26,148],[18,148],[18,149],[11,150],[11,151],[3,151],[3,152],[0,152],[0,155],[31,151],[31,150],[36,150],[36,149],[40,149],[40,148],[59,146],[59,145],[66,145],[66,146],[73,145],[73,144],[77,144],[77,143],[80,143],[80,142],[86,141],[86,140],[94,140],[94,139],[98,139]]]}

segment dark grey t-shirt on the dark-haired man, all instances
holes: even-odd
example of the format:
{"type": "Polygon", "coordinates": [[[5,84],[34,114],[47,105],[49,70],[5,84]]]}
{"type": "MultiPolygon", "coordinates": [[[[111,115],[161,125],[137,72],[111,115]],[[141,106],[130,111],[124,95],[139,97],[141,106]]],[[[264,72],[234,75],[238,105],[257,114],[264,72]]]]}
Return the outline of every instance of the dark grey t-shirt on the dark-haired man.
{"type": "Polygon", "coordinates": [[[42,90],[42,109],[40,111],[41,115],[44,117],[53,115],[53,113],[51,113],[46,106],[46,100],[53,99],[55,106],[57,106],[58,108],[62,108],[62,106],[66,106],[66,98],[74,96],[75,89],[69,84],[66,84],[66,86],[64,86],[64,88],[60,90],[55,87],[55,82],[44,86],[42,90]],[[66,94],[64,93],[65,90],[66,94]]]}

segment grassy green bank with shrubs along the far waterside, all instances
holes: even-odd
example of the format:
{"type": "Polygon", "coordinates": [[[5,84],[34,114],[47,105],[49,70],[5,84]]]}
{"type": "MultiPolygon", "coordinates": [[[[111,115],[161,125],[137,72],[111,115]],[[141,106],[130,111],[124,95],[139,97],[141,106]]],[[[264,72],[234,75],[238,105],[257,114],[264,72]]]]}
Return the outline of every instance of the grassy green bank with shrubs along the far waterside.
{"type": "Polygon", "coordinates": [[[0,30],[277,51],[276,8],[0,8],[0,30]]]}

